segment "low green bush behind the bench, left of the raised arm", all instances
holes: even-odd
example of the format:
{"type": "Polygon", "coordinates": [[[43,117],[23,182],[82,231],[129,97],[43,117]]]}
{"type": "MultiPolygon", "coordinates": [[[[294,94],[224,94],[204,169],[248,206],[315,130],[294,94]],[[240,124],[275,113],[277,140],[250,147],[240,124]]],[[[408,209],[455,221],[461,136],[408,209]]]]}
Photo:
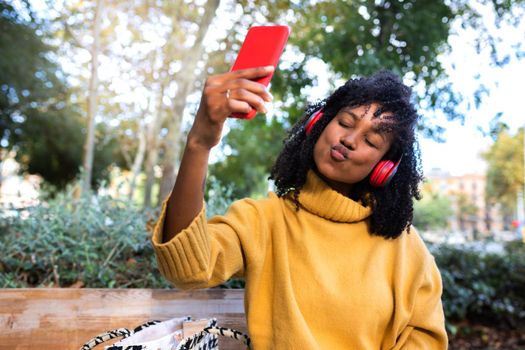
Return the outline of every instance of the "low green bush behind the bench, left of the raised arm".
{"type": "Polygon", "coordinates": [[[146,228],[131,202],[107,195],[53,199],[0,221],[0,287],[163,288],[146,228]]]}

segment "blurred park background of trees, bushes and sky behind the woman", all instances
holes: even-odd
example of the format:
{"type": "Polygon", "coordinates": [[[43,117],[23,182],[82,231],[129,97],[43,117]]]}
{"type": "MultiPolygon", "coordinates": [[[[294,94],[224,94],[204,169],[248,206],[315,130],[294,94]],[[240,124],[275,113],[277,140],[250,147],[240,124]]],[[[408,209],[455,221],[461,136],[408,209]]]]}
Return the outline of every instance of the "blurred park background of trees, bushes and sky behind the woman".
{"type": "Polygon", "coordinates": [[[390,69],[422,115],[414,225],[451,348],[525,348],[524,14],[509,0],[1,0],[0,288],[168,288],[148,239],[202,84],[251,25],[287,24],[270,112],[229,120],[214,150],[209,215],[271,189],[309,102],[390,69]]]}

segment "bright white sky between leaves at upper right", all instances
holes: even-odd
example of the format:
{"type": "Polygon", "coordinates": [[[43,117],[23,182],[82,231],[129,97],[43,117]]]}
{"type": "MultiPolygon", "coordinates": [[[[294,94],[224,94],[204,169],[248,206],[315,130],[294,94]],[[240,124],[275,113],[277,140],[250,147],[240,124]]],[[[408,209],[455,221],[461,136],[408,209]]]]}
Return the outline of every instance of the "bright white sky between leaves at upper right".
{"type": "MultiPolygon", "coordinates": [[[[498,44],[500,57],[515,52],[511,45],[524,42],[525,22],[521,21],[517,27],[502,26],[497,29],[492,25],[493,14],[489,11],[483,11],[483,14],[490,32],[502,38],[498,44]]],[[[441,168],[452,175],[483,173],[486,165],[479,154],[492,144],[492,140],[483,137],[479,128],[487,130],[490,119],[498,112],[503,113],[501,121],[507,123],[512,132],[525,125],[519,103],[523,99],[524,62],[511,56],[507,65],[501,68],[491,66],[488,51],[477,54],[470,44],[476,35],[479,33],[457,29],[457,35],[451,36],[449,40],[452,52],[443,57],[442,62],[448,67],[457,91],[472,94],[480,83],[484,83],[490,89],[490,94],[484,96],[477,110],[467,110],[463,106],[466,115],[464,125],[447,121],[440,124],[447,129],[445,143],[420,138],[425,173],[432,168],[441,168]],[[454,70],[452,64],[455,65],[454,70]],[[474,78],[476,74],[480,74],[479,80],[474,78]]]]}

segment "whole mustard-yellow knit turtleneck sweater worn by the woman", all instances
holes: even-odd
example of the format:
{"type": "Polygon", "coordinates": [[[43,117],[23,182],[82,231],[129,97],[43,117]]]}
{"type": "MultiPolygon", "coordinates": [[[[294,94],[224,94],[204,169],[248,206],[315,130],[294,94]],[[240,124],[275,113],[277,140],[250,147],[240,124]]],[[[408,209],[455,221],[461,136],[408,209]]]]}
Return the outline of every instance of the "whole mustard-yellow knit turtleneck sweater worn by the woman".
{"type": "Polygon", "coordinates": [[[368,231],[371,211],[313,172],[301,209],[270,193],[243,199],[162,242],[160,271],[180,288],[246,280],[254,349],[446,349],[441,278],[417,232],[395,240],[368,231]]]}

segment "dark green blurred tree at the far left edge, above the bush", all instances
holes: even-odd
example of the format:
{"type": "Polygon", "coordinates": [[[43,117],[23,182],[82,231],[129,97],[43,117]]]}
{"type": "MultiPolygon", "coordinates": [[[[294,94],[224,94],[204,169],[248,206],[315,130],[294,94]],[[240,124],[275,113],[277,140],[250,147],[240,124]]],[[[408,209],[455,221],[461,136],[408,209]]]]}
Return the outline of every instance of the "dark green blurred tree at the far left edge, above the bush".
{"type": "MultiPolygon", "coordinates": [[[[14,150],[23,171],[60,189],[79,173],[85,123],[77,91],[56,61],[49,22],[23,4],[0,1],[0,148],[14,150]]],[[[105,141],[95,149],[101,162],[93,182],[107,176],[115,147],[104,127],[96,132],[105,141]]]]}

